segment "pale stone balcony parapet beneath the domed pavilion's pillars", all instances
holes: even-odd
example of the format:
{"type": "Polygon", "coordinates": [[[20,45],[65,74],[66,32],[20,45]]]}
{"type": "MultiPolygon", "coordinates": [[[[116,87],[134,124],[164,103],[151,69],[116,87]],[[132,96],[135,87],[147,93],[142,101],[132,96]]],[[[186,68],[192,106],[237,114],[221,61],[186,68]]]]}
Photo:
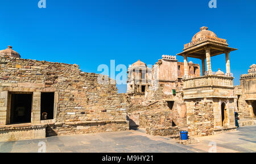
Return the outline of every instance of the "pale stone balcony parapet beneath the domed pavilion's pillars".
{"type": "Polygon", "coordinates": [[[183,79],[183,88],[197,88],[197,87],[233,87],[234,77],[225,76],[200,76],[191,79],[183,79]]]}

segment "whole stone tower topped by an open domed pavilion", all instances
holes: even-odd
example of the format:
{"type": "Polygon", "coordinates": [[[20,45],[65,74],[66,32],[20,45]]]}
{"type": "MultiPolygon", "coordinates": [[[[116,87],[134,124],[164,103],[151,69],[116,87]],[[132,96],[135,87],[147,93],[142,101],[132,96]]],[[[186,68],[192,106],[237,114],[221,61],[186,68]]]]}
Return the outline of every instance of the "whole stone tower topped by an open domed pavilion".
{"type": "Polygon", "coordinates": [[[207,136],[224,131],[234,131],[234,86],[230,72],[229,53],[237,49],[230,48],[227,41],[218,38],[207,27],[201,27],[191,42],[184,45],[181,55],[184,57],[183,99],[187,106],[188,133],[191,136],[207,136]],[[210,58],[225,54],[226,74],[212,71],[210,58]],[[203,76],[188,76],[188,57],[202,61],[203,76]],[[205,71],[205,59],[207,71],[205,71]]]}

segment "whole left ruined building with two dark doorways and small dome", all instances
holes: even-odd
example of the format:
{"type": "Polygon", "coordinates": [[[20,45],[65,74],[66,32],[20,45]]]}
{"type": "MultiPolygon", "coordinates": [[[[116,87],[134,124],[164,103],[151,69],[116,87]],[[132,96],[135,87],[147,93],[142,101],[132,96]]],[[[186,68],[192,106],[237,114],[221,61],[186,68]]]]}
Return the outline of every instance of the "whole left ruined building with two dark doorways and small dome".
{"type": "MultiPolygon", "coordinates": [[[[0,51],[0,141],[129,130],[113,83],[77,64],[22,59],[0,51]]],[[[111,79],[109,79],[111,80],[111,79]]]]}

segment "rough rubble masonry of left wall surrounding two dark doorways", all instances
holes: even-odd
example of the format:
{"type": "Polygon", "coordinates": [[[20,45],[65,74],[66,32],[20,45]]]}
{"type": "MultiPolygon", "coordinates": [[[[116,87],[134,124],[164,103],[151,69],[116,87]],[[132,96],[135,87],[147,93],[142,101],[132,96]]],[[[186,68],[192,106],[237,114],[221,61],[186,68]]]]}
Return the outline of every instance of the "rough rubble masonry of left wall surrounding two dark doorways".
{"type": "MultiPolygon", "coordinates": [[[[82,72],[77,64],[1,56],[0,65],[0,92],[36,93],[34,98],[39,98],[36,99],[38,103],[34,104],[34,111],[40,111],[40,92],[55,92],[54,122],[75,124],[94,121],[97,124],[97,121],[126,120],[126,99],[123,94],[117,93],[115,84],[99,84],[98,79],[104,77],[82,72]]],[[[106,78],[108,82],[111,81],[109,77],[106,78]]],[[[0,101],[6,101],[7,97],[1,98],[0,101]]],[[[6,123],[6,110],[7,107],[3,106],[1,124],[6,123]]],[[[32,116],[32,119],[40,122],[40,115],[32,116]]],[[[116,124],[112,124],[112,130],[115,130],[116,124]]],[[[127,126],[120,124],[123,128],[119,129],[127,130],[127,126]]],[[[52,127],[54,130],[55,126],[52,127]]],[[[62,127],[55,130],[56,133],[60,133],[67,129],[67,125],[62,124],[62,127]]],[[[100,128],[94,128],[90,132],[97,132],[97,129],[100,128]]]]}

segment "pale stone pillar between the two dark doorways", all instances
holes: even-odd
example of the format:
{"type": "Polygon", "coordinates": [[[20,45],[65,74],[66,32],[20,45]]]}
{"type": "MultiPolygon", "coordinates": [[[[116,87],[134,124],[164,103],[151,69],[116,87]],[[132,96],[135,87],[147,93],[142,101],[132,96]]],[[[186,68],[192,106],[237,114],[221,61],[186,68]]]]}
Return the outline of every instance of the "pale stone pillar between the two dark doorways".
{"type": "Polygon", "coordinates": [[[33,92],[31,123],[40,123],[41,120],[41,92],[33,92]]]}

